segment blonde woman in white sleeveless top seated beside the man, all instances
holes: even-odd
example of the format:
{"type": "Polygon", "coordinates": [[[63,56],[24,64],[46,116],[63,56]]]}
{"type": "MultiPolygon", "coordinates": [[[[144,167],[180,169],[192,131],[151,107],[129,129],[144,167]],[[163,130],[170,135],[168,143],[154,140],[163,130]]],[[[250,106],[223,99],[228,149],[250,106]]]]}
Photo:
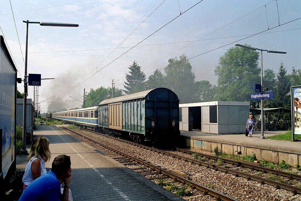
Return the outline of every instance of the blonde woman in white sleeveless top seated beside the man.
{"type": "Polygon", "coordinates": [[[33,139],[31,143],[27,165],[22,179],[23,191],[36,178],[46,174],[45,162],[50,160],[49,140],[46,137],[39,136],[33,139]]]}

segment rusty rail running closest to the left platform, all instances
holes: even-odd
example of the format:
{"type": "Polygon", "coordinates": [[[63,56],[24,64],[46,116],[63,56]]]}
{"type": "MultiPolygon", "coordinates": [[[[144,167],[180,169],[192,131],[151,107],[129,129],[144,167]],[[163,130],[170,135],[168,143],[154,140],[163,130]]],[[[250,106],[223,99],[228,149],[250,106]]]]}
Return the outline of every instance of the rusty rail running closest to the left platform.
{"type": "MultiPolygon", "coordinates": [[[[68,128],[66,128],[66,129],[68,129],[68,128]]],[[[71,129],[68,129],[68,130],[70,130],[71,132],[76,133],[77,135],[79,135],[79,136],[81,136],[81,137],[84,137],[84,138],[86,138],[86,139],[88,139],[88,140],[90,140],[90,141],[92,141],[92,142],[94,142],[94,143],[96,143],[96,144],[98,144],[98,145],[101,145],[101,146],[103,146],[103,147],[105,147],[105,148],[107,148],[107,149],[113,150],[114,152],[116,152],[116,153],[118,153],[118,154],[120,154],[120,155],[122,155],[122,156],[124,156],[124,157],[127,157],[127,158],[129,158],[129,159],[131,159],[131,160],[137,161],[137,162],[139,162],[139,163],[145,165],[145,166],[148,167],[148,168],[151,168],[151,169],[153,169],[153,170],[159,171],[159,172],[162,173],[162,174],[166,174],[166,175],[168,175],[169,177],[174,178],[174,179],[177,180],[177,181],[181,181],[181,182],[183,182],[183,183],[188,183],[188,184],[190,184],[192,187],[194,187],[195,189],[200,190],[200,191],[204,192],[205,194],[208,194],[208,195],[211,195],[211,196],[213,196],[213,197],[216,197],[218,200],[237,201],[237,199],[234,199],[234,198],[229,197],[229,196],[227,196],[227,195],[225,195],[225,194],[223,194],[223,193],[219,193],[219,192],[217,192],[217,191],[215,191],[215,190],[213,190],[213,189],[210,189],[210,188],[208,188],[208,187],[202,186],[202,185],[197,184],[197,183],[195,183],[195,182],[193,182],[193,181],[190,181],[190,180],[188,180],[188,179],[185,179],[184,177],[178,176],[177,174],[174,174],[174,173],[172,173],[172,172],[170,172],[170,171],[167,171],[167,170],[165,170],[165,169],[163,169],[163,168],[160,168],[160,167],[158,167],[158,166],[156,166],[156,165],[153,165],[153,164],[151,164],[151,163],[149,163],[149,162],[146,162],[146,161],[144,161],[143,159],[139,159],[139,158],[137,158],[137,157],[135,157],[135,156],[132,156],[132,155],[129,155],[129,154],[125,153],[125,152],[122,152],[122,151],[119,151],[119,150],[117,150],[117,149],[114,149],[114,148],[111,147],[111,146],[105,145],[105,144],[103,144],[103,143],[101,143],[101,142],[99,142],[99,141],[97,141],[97,140],[94,140],[94,139],[92,139],[92,138],[90,138],[90,137],[88,137],[88,136],[85,136],[85,135],[83,135],[83,134],[81,134],[81,133],[78,133],[78,132],[76,132],[76,131],[74,131],[74,130],[71,130],[71,129]]],[[[116,157],[115,157],[115,158],[116,158],[116,157]]],[[[116,159],[117,159],[117,160],[120,159],[119,161],[131,162],[130,160],[128,160],[128,159],[126,159],[126,158],[116,158],[116,159]]]]}

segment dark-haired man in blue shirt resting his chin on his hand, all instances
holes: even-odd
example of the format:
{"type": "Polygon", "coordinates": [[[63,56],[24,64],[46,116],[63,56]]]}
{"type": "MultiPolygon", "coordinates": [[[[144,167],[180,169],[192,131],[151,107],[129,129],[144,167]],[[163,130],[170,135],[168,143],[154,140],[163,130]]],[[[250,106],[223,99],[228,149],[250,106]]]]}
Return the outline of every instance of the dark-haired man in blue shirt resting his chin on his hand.
{"type": "Polygon", "coordinates": [[[58,155],[52,162],[51,171],[33,180],[23,191],[19,201],[67,201],[71,178],[70,156],[58,155]],[[63,182],[62,194],[61,184],[63,182]]]}

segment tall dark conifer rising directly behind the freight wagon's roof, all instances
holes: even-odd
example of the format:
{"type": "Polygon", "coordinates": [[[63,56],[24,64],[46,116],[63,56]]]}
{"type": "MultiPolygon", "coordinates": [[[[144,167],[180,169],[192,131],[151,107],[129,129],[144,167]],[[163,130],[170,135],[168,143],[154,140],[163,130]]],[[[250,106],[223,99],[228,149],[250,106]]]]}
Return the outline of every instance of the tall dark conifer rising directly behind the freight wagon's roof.
{"type": "Polygon", "coordinates": [[[138,65],[136,61],[133,62],[132,65],[129,66],[129,74],[126,73],[126,82],[124,82],[124,93],[131,94],[140,91],[144,91],[144,83],[133,82],[129,80],[138,80],[144,81],[146,78],[144,72],[141,71],[141,66],[138,65]]]}

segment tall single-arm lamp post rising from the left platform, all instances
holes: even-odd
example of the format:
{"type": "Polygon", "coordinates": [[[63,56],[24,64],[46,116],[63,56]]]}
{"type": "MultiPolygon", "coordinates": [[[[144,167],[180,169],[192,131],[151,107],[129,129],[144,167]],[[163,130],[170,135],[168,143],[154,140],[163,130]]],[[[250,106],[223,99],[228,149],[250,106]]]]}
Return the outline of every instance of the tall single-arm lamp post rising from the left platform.
{"type": "Polygon", "coordinates": [[[26,44],[25,44],[25,69],[24,69],[24,101],[23,101],[23,148],[21,154],[28,154],[26,150],[26,104],[27,104],[27,49],[28,49],[28,24],[40,24],[41,26],[52,26],[52,27],[78,27],[78,24],[67,24],[67,23],[54,23],[54,22],[29,22],[26,23],[26,44]]]}

